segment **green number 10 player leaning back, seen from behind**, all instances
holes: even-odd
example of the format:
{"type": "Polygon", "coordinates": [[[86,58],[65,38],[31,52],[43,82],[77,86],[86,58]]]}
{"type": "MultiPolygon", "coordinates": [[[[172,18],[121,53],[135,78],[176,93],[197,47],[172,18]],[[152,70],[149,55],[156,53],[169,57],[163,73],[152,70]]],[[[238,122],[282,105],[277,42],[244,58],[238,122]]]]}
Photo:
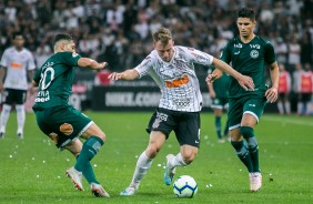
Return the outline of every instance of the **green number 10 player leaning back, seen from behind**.
{"type": "Polygon", "coordinates": [[[67,170],[79,191],[83,191],[82,175],[95,196],[110,197],[95,178],[90,161],[105,141],[105,134],[88,116],[68,103],[71,94],[74,68],[102,70],[107,62],[82,58],[75,53],[75,43],[69,34],[54,37],[54,54],[37,71],[32,90],[39,86],[33,111],[37,124],[58,149],[67,149],[75,157],[73,167],[67,170]],[[82,137],[85,142],[79,140],[82,137]]]}

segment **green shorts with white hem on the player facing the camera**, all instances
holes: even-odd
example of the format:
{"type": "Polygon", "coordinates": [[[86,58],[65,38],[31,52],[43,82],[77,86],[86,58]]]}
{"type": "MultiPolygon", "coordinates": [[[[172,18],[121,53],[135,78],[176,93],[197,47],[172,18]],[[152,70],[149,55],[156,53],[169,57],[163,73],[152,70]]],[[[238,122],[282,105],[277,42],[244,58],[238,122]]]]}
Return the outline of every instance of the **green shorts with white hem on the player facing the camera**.
{"type": "Polygon", "coordinates": [[[233,130],[240,126],[243,114],[252,114],[258,123],[266,105],[265,96],[246,95],[243,98],[229,99],[228,122],[229,129],[233,130]]]}

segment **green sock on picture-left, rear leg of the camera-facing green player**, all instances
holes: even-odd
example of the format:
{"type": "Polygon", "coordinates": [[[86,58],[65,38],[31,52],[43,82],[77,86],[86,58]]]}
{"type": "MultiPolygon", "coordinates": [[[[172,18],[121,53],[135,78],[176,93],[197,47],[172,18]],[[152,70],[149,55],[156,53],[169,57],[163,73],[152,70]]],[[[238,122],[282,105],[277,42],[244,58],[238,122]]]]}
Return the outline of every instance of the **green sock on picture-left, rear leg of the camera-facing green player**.
{"type": "Polygon", "coordinates": [[[243,144],[243,141],[239,141],[239,142],[231,141],[231,144],[233,145],[238,157],[246,166],[248,171],[250,173],[253,172],[250,153],[246,150],[245,145],[243,144]]]}

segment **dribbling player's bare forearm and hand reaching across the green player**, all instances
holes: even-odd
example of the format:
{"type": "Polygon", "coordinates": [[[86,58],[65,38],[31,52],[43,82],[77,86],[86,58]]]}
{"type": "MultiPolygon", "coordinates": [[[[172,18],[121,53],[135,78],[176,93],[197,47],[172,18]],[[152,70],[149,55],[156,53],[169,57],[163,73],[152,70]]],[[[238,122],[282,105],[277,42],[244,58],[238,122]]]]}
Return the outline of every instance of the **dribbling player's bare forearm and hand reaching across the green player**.
{"type": "Polygon", "coordinates": [[[241,73],[239,73],[238,71],[232,69],[232,67],[230,67],[229,64],[226,64],[225,62],[223,62],[222,60],[219,60],[216,58],[213,59],[213,65],[215,65],[222,72],[226,72],[228,74],[230,74],[231,76],[236,79],[239,84],[244,90],[254,90],[254,83],[253,83],[252,78],[250,78],[248,75],[242,75],[241,73]]]}

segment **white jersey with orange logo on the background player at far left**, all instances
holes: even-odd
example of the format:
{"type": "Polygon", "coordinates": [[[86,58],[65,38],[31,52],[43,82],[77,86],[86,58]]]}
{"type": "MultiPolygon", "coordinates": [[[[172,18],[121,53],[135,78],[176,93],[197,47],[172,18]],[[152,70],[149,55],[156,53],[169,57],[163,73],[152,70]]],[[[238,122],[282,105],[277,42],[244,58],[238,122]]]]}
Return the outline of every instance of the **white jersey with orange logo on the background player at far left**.
{"type": "Polygon", "coordinates": [[[33,57],[28,49],[18,51],[14,47],[8,48],[1,58],[1,67],[7,68],[4,88],[28,89],[27,72],[36,69],[33,57]]]}

